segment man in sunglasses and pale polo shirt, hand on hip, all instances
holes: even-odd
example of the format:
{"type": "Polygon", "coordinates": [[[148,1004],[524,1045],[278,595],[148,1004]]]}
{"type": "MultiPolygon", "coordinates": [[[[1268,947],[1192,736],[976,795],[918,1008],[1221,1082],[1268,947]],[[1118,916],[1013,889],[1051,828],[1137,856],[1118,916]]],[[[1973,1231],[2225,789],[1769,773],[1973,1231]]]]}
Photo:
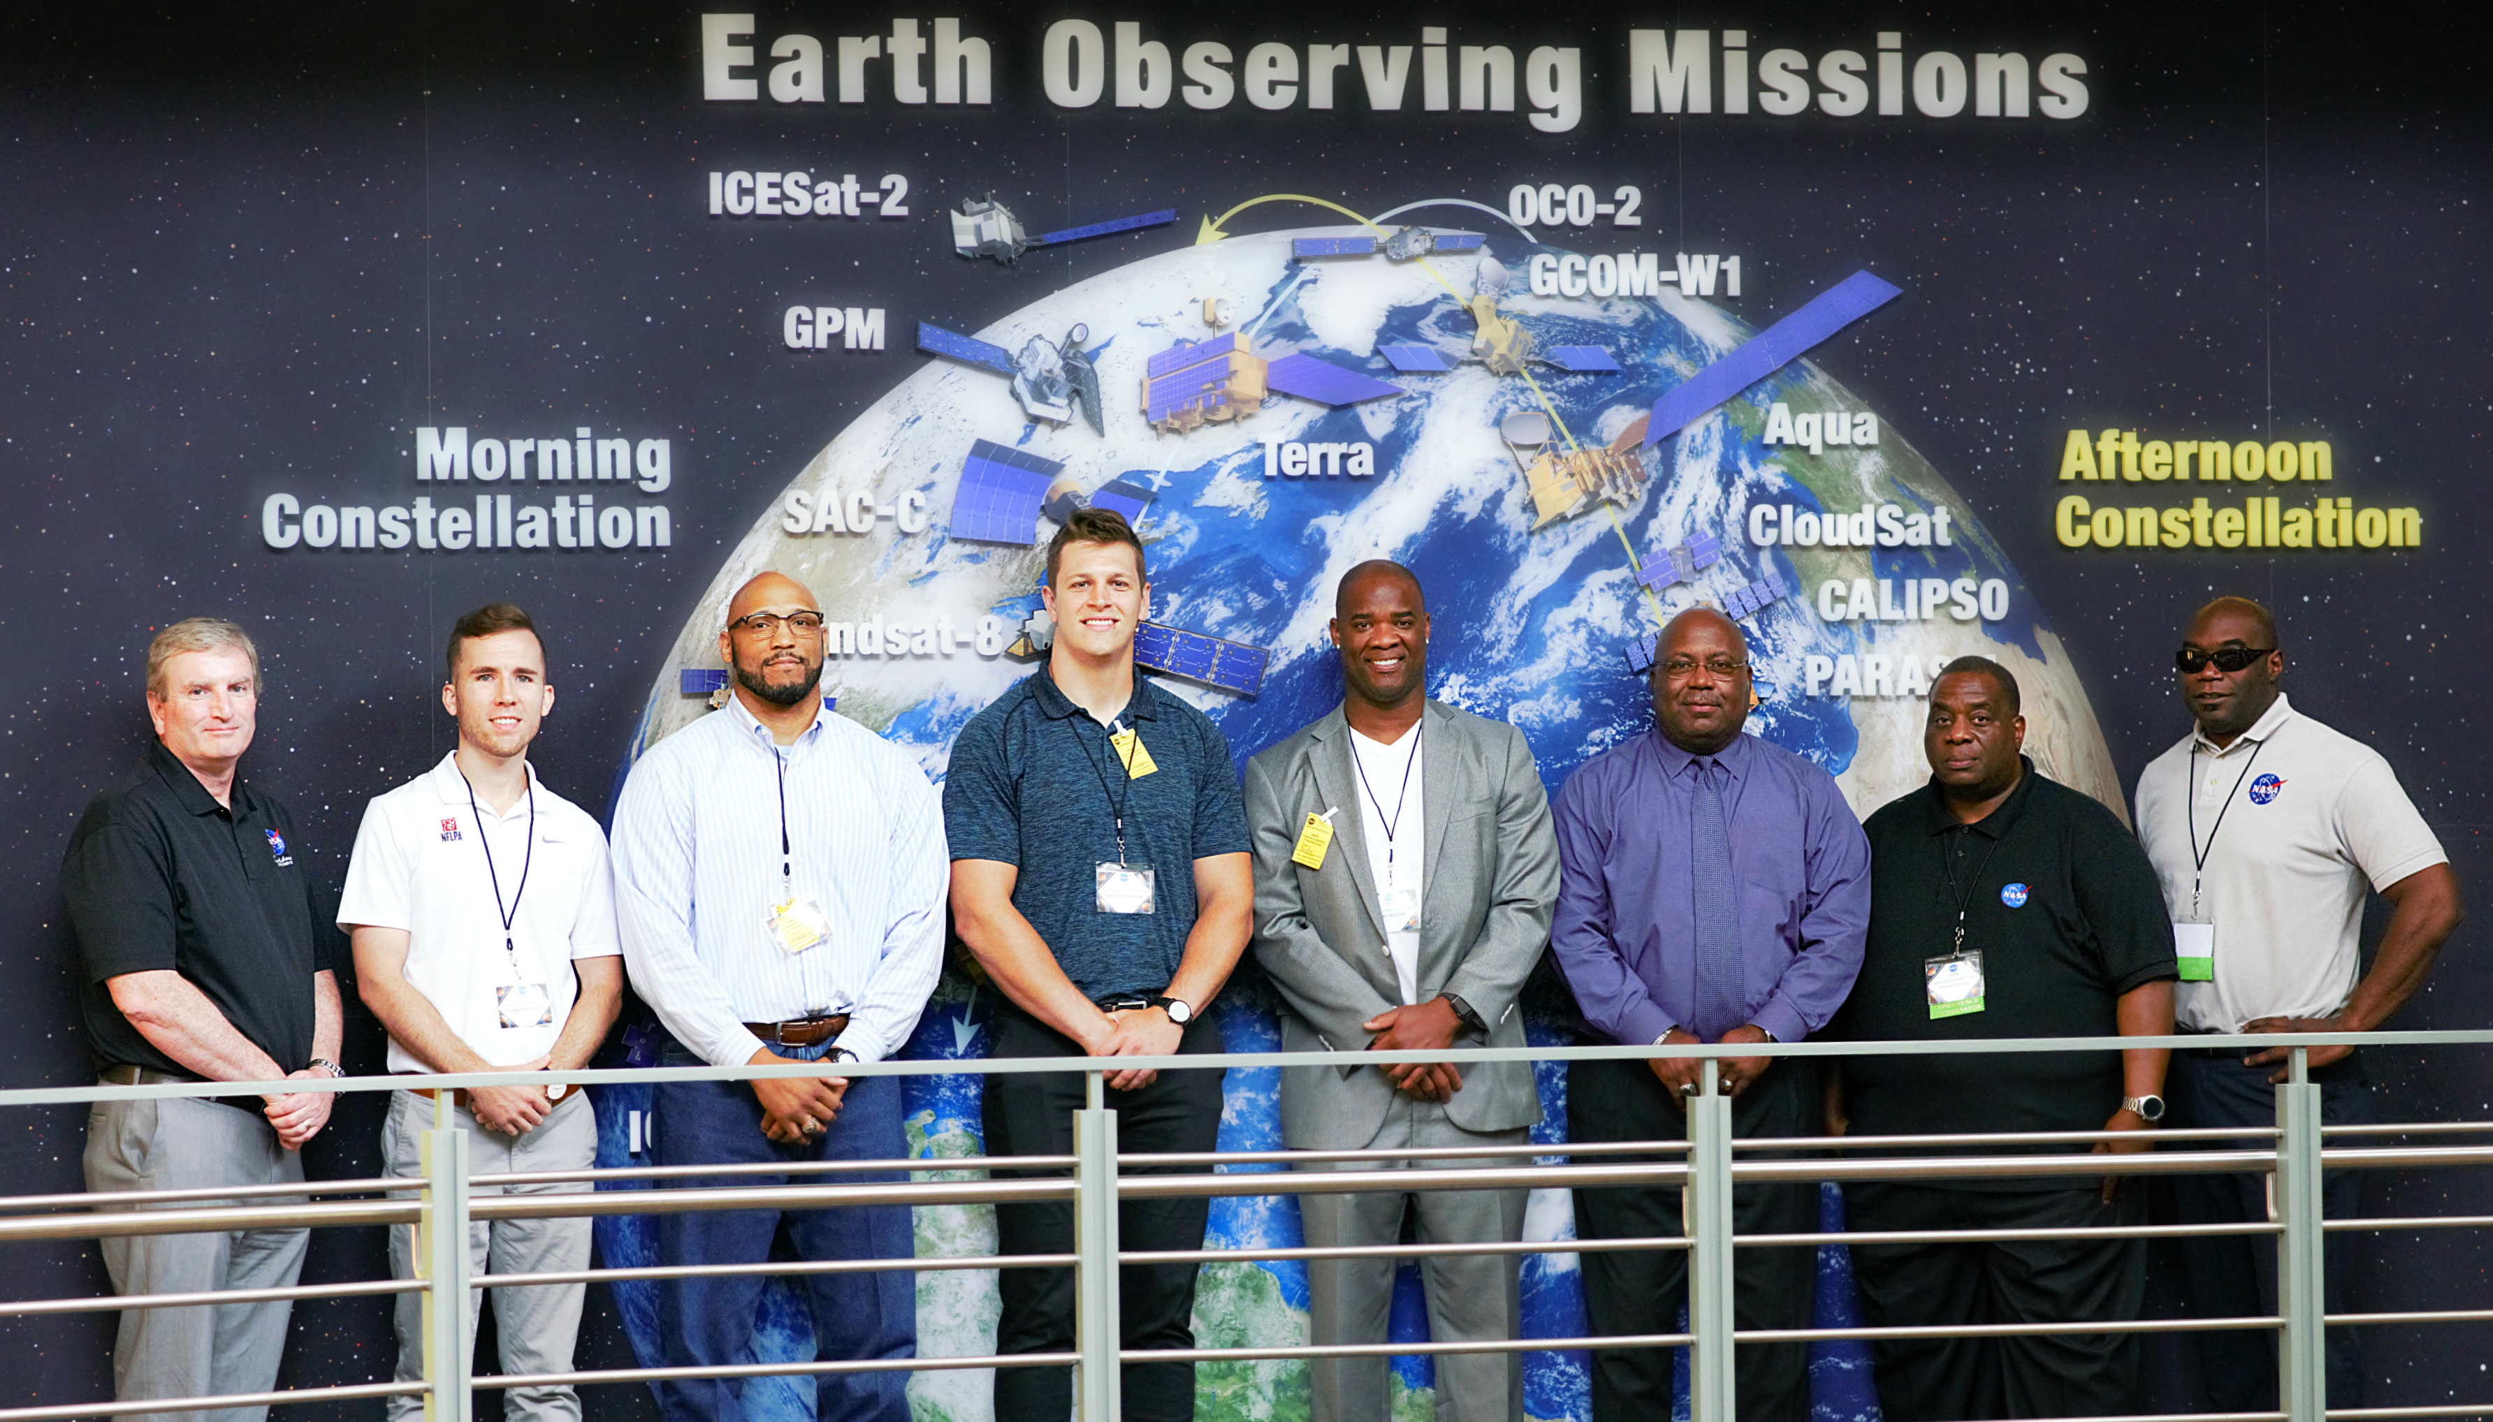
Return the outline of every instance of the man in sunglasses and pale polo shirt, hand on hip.
{"type": "MultiPolygon", "coordinates": [[[[2279,690],[2286,655],[2269,610],[2216,598],[2191,620],[2181,700],[2196,730],[2139,775],[2139,839],[2174,916],[2181,1031],[2373,1031],[2433,966],[2458,926],[2458,879],[2396,772],[2371,747],[2299,715],[2279,690]],[[2363,904],[2378,892],[2388,926],[2363,971],[2363,904]]],[[[2286,1048],[2176,1051],[2171,1128],[2274,1126],[2286,1048]]],[[[2371,1118],[2351,1046],[2311,1048],[2328,1126],[2371,1118]]],[[[2226,1143],[2216,1143],[2226,1146],[2226,1143]]],[[[2361,1170],[2326,1180],[2326,1213],[2361,1208],[2361,1170]]],[[[2264,1175],[2174,1175],[2184,1223],[2266,1220],[2264,1175]]],[[[2341,1312],[2346,1235],[2323,1258],[2328,1312],[2341,1312]]],[[[2276,1248],[2264,1238],[2191,1238],[2176,1248],[2191,1317],[2276,1312],[2276,1248]]],[[[2181,1335],[2206,1390],[2191,1410],[2276,1407],[2269,1332],[2181,1335]]],[[[2328,1407],[2361,1407],[2361,1355],[2328,1330],[2328,1407]]]]}

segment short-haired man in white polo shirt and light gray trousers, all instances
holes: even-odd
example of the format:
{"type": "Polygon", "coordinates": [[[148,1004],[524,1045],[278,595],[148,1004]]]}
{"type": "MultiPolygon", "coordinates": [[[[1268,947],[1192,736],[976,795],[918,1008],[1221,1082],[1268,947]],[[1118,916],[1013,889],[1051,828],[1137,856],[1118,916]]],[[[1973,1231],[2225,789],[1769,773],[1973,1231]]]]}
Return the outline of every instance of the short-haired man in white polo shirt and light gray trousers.
{"type": "MultiPolygon", "coordinates": [[[[536,625],[509,603],[451,628],[441,705],[459,717],[459,750],[364,812],[347,867],[339,926],[354,934],[364,1006],[389,1029],[391,1071],[571,1071],[613,1026],[623,994],[606,834],[583,809],[536,782],[529,742],[553,707],[536,625]]],[[[381,1163],[416,1175],[419,1133],[436,1121],[431,1091],[394,1091],[381,1163]]],[[[476,1193],[491,1175],[586,1170],[596,1116],[581,1091],[479,1086],[451,1101],[469,1131],[476,1193]]],[[[531,1185],[543,1193],[578,1185],[531,1185]]],[[[414,1278],[414,1233],[389,1233],[389,1268],[414,1278]]],[[[494,1220],[469,1233],[476,1273],[588,1268],[588,1220],[494,1220]]],[[[499,1288],[494,1322],[504,1372],[568,1372],[586,1285],[499,1288]]],[[[474,1320],[479,1300],[471,1300],[474,1320]]],[[[396,1305],[401,1382],[424,1375],[424,1297],[396,1305]]],[[[391,1397],[391,1422],[424,1410],[391,1397]]],[[[576,1422],[571,1387],[514,1387],[504,1415],[576,1422]]]]}

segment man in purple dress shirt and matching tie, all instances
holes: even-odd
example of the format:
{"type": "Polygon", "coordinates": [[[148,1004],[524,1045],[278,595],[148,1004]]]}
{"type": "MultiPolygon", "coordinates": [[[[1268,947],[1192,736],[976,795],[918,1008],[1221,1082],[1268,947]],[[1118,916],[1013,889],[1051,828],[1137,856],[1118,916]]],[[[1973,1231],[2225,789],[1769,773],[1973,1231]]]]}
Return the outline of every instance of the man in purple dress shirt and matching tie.
{"type": "MultiPolygon", "coordinates": [[[[1743,735],[1750,677],[1740,628],[1690,608],[1653,652],[1658,730],[1586,762],[1558,792],[1558,909],[1551,946],[1593,1041],[1802,1041],[1822,1029],[1862,964],[1870,842],[1817,765],[1743,735]]],[[[1568,1071],[1573,1141],[1685,1138],[1683,1093],[1700,1063],[1578,1061],[1568,1071]]],[[[1735,1136],[1815,1136],[1810,1058],[1723,1061],[1735,1136]]],[[[1817,1228],[1817,1188],[1745,1185],[1735,1228],[1817,1228]]],[[[1576,1238],[1678,1235],[1680,1193],[1660,1185],[1576,1190],[1576,1238]]],[[[1740,1250],[1738,1327],[1807,1327],[1817,1250],[1740,1250]]],[[[1675,1332],[1685,1250],[1586,1253],[1596,1335],[1675,1332]]],[[[1740,1345],[1743,1422],[1807,1422],[1807,1345],[1740,1345]]],[[[1593,1422],[1670,1415],[1670,1352],[1593,1352],[1593,1422]]]]}

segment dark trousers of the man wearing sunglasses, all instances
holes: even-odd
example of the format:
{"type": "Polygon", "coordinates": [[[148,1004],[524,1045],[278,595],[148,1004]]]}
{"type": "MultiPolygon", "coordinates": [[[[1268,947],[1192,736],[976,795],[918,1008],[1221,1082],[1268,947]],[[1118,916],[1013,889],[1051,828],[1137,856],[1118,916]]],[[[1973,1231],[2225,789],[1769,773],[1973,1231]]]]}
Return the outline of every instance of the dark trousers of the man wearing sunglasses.
{"type": "MultiPolygon", "coordinates": [[[[2274,1066],[2244,1066],[2239,1051],[2176,1051],[2164,1078],[2174,1131],[2216,1126],[2276,1126],[2274,1066]]],[[[2311,1073],[2321,1088],[2323,1126],[2373,1121],[2363,1058],[2348,1056],[2311,1073]]],[[[2209,1141],[2211,1151],[2244,1151],[2256,1141],[2209,1141]]],[[[2266,1175],[2174,1175],[2174,1210],[2184,1225],[2239,1225],[2269,1218],[2266,1175]]],[[[2321,1178],[2321,1213],[2351,1220],[2363,1213],[2363,1173],[2331,1170],[2321,1178]]],[[[2346,1312],[2348,1235],[2321,1245],[2321,1285],[2328,1312],[2346,1312]]],[[[2184,1317],[2241,1317],[2276,1312],[2274,1238],[2186,1238],[2171,1258],[2181,1265],[2184,1317]]],[[[2199,1360],[2204,1397],[2214,1412],[2266,1412],[2276,1407],[2276,1335],[2186,1332],[2181,1347],[2199,1360]]],[[[2328,1407],[2363,1405],[2363,1352],[2351,1327],[2328,1330],[2328,1407]]]]}

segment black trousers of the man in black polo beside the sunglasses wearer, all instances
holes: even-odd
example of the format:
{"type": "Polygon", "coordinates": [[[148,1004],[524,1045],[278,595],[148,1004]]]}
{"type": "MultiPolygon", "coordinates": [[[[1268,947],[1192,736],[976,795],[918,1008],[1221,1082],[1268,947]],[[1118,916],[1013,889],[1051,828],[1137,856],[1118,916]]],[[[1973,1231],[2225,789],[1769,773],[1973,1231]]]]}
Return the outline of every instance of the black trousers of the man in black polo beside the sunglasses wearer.
{"type": "MultiPolygon", "coordinates": [[[[2132,1180],[2104,1205],[2077,1190],[1845,1185],[1847,1230],[2072,1230],[2146,1223],[2132,1180]]],[[[2146,1300],[2141,1240],[1999,1240],[1852,1245],[1867,1327],[1984,1322],[2129,1322],[2146,1300]]],[[[2139,1347],[2129,1332],[1875,1340],[1885,1422],[2114,1417],[2137,1412],[2139,1347]]]]}

